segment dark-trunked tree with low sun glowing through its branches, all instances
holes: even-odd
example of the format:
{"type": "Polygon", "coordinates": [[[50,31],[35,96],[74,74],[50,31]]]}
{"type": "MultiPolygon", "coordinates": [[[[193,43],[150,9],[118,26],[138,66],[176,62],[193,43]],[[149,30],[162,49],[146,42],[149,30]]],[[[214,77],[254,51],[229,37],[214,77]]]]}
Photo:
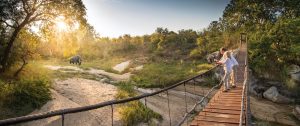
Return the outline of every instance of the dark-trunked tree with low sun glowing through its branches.
{"type": "MultiPolygon", "coordinates": [[[[0,4],[1,33],[5,35],[5,48],[1,55],[1,72],[9,66],[8,60],[19,32],[35,23],[53,21],[58,16],[77,20],[84,19],[85,7],[81,0],[2,0],[0,4]]],[[[71,20],[72,21],[72,20],[71,20]]]]}

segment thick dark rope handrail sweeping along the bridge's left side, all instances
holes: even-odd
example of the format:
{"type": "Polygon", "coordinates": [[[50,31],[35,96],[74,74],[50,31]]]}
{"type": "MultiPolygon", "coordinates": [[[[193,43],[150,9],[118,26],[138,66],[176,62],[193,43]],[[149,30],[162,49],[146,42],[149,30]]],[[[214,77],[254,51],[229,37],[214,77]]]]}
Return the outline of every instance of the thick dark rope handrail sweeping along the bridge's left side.
{"type": "MultiPolygon", "coordinates": [[[[191,80],[195,80],[196,78],[207,74],[208,72],[212,71],[213,69],[217,68],[218,66],[219,65],[215,65],[214,67],[212,67],[211,69],[205,71],[204,73],[201,73],[201,74],[196,75],[194,77],[191,77],[189,79],[180,81],[178,83],[175,83],[171,86],[168,86],[166,88],[163,88],[161,90],[158,90],[158,91],[155,91],[155,92],[152,92],[152,93],[144,93],[144,94],[139,95],[139,96],[130,97],[130,98],[121,99],[121,100],[110,100],[110,101],[106,101],[106,102],[97,103],[97,104],[94,104],[94,105],[87,105],[87,106],[67,108],[67,109],[59,109],[59,110],[53,110],[53,111],[43,112],[43,113],[39,113],[39,114],[33,114],[33,115],[27,115],[27,116],[20,116],[20,117],[16,117],[16,118],[4,119],[4,120],[0,120],[0,125],[18,124],[18,123],[23,123],[23,122],[29,122],[29,121],[49,118],[49,117],[53,117],[53,116],[62,116],[62,118],[64,118],[65,114],[83,112],[83,111],[102,108],[102,107],[105,107],[105,106],[114,105],[114,104],[121,104],[121,103],[130,102],[130,101],[140,100],[140,99],[143,99],[143,98],[146,98],[146,97],[150,97],[150,96],[168,91],[168,90],[173,89],[173,88],[175,88],[179,85],[182,85],[182,84],[185,85],[187,82],[189,82],[191,80]]],[[[208,95],[209,94],[207,94],[205,97],[207,97],[208,95]]],[[[202,98],[202,100],[200,102],[202,102],[203,99],[204,99],[204,97],[202,98]]],[[[198,103],[200,103],[200,102],[198,102],[198,103]]],[[[64,124],[64,122],[62,122],[62,124],[64,124]]]]}

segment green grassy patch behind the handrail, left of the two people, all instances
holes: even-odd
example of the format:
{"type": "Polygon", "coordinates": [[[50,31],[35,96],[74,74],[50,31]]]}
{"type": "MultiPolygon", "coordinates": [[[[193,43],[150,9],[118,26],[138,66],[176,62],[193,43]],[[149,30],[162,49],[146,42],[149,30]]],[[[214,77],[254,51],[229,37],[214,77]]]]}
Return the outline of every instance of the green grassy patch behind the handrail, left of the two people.
{"type": "Polygon", "coordinates": [[[198,64],[201,62],[146,64],[144,69],[134,72],[131,80],[138,87],[165,87],[212,68],[209,64],[198,64]]]}

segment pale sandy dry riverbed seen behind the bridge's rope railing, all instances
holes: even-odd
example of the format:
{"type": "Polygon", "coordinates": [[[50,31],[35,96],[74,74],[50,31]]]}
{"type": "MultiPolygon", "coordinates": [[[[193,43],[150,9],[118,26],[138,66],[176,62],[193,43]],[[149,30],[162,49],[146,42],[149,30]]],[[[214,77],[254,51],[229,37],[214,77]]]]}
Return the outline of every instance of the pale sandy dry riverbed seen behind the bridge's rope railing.
{"type": "MultiPolygon", "coordinates": [[[[45,66],[51,70],[71,69],[74,71],[87,72],[88,74],[101,74],[118,80],[129,78],[103,70],[83,70],[74,66],[45,66]]],[[[62,71],[65,72],[65,71],[62,71]]],[[[67,71],[69,72],[69,71],[67,71]]],[[[71,71],[72,72],[72,71],[71,71]]],[[[71,73],[70,73],[71,74],[71,73]]],[[[51,90],[53,100],[46,103],[41,109],[35,110],[31,114],[48,112],[52,110],[74,108],[86,105],[93,105],[114,99],[117,88],[111,84],[83,78],[68,78],[66,80],[56,79],[51,90]]],[[[65,115],[65,125],[67,126],[106,126],[111,125],[111,107],[103,107],[87,112],[80,112],[65,115]]],[[[61,124],[61,117],[52,117],[38,121],[26,123],[26,126],[57,126],[61,124]]],[[[114,124],[120,124],[120,116],[114,111],[114,124]]]]}

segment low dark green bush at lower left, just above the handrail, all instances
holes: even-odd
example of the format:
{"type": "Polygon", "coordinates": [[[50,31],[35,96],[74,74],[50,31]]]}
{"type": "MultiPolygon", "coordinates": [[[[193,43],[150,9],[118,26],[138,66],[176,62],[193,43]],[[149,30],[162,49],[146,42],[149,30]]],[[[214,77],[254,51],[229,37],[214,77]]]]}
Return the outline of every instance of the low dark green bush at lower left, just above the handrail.
{"type": "Polygon", "coordinates": [[[4,113],[4,117],[28,114],[51,99],[50,85],[45,79],[2,82],[0,87],[0,108],[7,108],[13,112],[11,115],[4,113]]]}

